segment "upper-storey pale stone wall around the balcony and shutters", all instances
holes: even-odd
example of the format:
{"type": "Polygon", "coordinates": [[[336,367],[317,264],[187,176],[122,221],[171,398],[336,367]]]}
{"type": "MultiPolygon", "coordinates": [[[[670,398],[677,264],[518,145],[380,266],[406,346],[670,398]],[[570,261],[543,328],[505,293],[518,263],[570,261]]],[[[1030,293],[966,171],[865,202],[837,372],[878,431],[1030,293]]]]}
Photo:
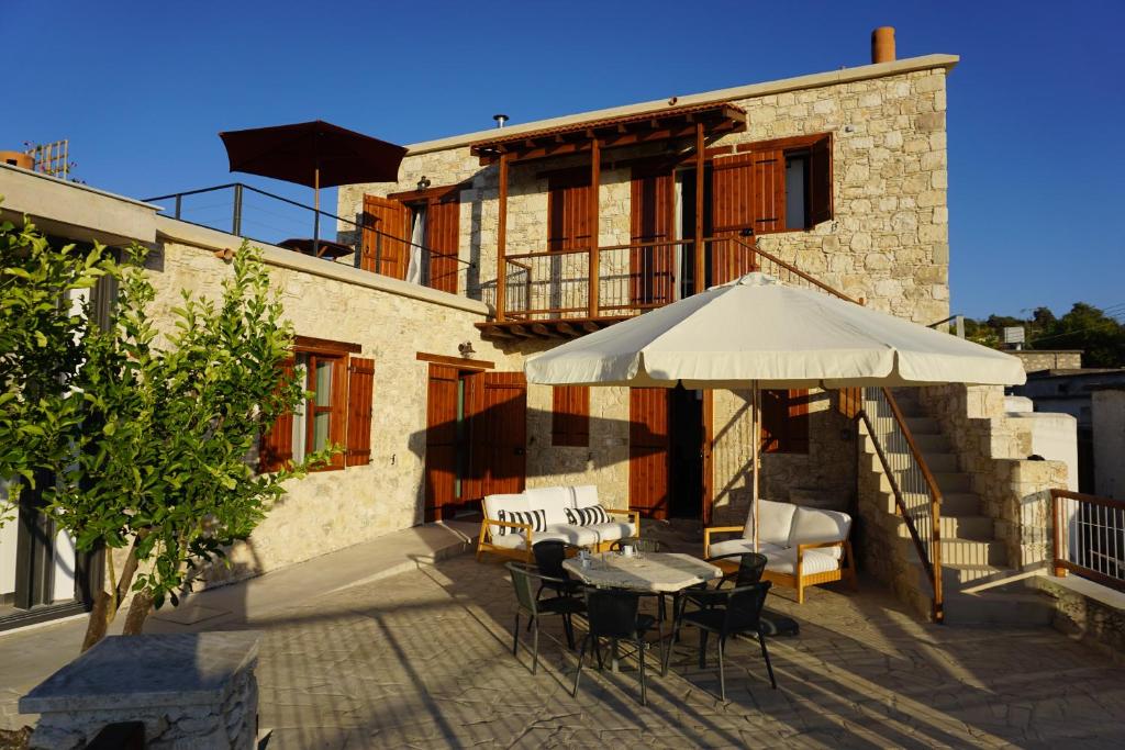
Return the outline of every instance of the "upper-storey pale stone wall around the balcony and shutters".
{"type": "MultiPolygon", "coordinates": [[[[735,101],[747,110],[747,130],[714,146],[832,134],[832,220],[808,232],[763,235],[762,246],[879,309],[927,324],[947,317],[945,85],[945,69],[935,67],[735,101]]],[[[614,164],[650,151],[603,153],[609,169],[598,196],[602,244],[629,236],[628,168],[614,164]]],[[[546,249],[543,172],[586,162],[567,157],[512,166],[508,254],[546,249]]],[[[356,215],[364,193],[413,190],[423,175],[434,186],[466,184],[461,254],[479,264],[487,293],[496,277],[497,168],[480,166],[468,146],[408,155],[397,183],[343,187],[339,210],[356,215]]]]}

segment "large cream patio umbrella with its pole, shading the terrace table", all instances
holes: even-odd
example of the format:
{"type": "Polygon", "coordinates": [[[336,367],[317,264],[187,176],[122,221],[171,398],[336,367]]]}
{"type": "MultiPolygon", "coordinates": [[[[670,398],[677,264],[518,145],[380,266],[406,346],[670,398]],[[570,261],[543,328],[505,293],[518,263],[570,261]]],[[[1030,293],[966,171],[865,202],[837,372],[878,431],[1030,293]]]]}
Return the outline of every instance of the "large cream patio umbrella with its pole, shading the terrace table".
{"type": "Polygon", "coordinates": [[[764,273],[562,344],[529,359],[524,371],[554,386],[750,389],[755,549],[760,389],[1026,379],[1010,354],[764,273]]]}

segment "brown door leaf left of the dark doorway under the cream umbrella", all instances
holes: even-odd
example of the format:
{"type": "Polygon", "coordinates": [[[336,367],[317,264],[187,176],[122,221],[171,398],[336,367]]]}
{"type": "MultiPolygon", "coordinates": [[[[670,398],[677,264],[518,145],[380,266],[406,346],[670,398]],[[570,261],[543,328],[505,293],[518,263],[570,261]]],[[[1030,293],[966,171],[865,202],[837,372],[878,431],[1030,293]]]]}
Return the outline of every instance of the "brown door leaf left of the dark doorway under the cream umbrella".
{"type": "Polygon", "coordinates": [[[650,518],[668,515],[668,391],[629,390],[629,507],[650,518]]]}

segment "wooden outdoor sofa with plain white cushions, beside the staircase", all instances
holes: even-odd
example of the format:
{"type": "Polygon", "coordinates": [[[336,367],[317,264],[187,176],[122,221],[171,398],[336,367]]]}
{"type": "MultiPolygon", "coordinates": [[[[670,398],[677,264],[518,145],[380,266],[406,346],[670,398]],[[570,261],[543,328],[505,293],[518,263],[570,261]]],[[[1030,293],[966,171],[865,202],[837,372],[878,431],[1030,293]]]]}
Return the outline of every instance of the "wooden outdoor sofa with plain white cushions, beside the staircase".
{"type": "MultiPolygon", "coordinates": [[[[855,561],[848,541],[852,516],[792,503],[758,500],[758,552],[766,555],[763,579],[795,588],[798,603],[804,602],[807,586],[847,579],[855,587],[855,561]]],[[[745,526],[717,526],[703,531],[706,558],[753,551],[753,507],[745,526]],[[742,535],[722,542],[711,541],[712,534],[731,532],[742,535]]]]}

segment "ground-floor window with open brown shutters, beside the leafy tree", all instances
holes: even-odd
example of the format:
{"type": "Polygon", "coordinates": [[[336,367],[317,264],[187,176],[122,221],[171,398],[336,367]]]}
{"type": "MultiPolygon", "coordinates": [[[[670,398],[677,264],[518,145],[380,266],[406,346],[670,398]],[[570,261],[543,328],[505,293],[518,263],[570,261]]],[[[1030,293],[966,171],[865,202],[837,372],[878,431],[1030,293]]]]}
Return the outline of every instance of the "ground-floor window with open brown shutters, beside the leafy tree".
{"type": "Polygon", "coordinates": [[[374,360],[354,344],[298,336],[286,369],[303,378],[306,398],[262,436],[259,469],[277,471],[330,445],[343,450],[320,470],[360,466],[371,458],[374,360]]]}

